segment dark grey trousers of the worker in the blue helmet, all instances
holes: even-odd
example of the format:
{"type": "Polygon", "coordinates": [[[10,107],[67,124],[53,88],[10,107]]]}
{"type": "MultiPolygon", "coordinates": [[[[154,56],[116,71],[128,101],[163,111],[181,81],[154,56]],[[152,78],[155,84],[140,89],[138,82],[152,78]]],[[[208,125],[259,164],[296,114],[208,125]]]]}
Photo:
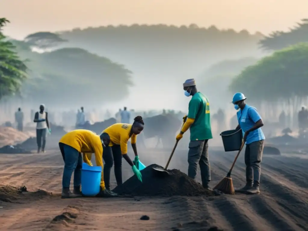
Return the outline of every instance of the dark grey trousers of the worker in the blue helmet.
{"type": "Polygon", "coordinates": [[[263,148],[264,140],[260,140],[246,144],[245,149],[246,181],[256,186],[260,186],[263,148]]]}

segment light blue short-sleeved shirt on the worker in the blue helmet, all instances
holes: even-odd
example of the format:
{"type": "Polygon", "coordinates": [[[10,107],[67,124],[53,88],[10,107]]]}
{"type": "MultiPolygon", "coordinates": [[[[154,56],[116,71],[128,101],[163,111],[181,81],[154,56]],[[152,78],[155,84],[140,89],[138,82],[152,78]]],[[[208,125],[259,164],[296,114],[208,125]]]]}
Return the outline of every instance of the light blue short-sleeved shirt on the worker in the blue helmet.
{"type": "MultiPolygon", "coordinates": [[[[238,124],[241,126],[243,134],[252,128],[259,120],[261,119],[260,114],[258,113],[257,109],[251,107],[249,105],[245,105],[243,110],[237,112],[237,121],[238,124]]],[[[258,128],[252,132],[249,132],[246,144],[251,144],[255,141],[265,140],[265,136],[262,132],[261,128],[258,128]]]]}

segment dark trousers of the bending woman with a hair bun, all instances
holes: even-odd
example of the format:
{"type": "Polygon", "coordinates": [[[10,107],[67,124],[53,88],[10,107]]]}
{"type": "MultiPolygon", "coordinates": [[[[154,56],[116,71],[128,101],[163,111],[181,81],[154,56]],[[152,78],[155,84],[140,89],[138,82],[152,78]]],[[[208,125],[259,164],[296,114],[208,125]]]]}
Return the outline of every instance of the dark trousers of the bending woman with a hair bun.
{"type": "Polygon", "coordinates": [[[110,173],[112,164],[115,164],[115,180],[116,184],[120,185],[122,181],[122,152],[120,145],[113,145],[112,147],[105,147],[103,152],[104,165],[104,181],[106,188],[110,188],[110,173]]]}

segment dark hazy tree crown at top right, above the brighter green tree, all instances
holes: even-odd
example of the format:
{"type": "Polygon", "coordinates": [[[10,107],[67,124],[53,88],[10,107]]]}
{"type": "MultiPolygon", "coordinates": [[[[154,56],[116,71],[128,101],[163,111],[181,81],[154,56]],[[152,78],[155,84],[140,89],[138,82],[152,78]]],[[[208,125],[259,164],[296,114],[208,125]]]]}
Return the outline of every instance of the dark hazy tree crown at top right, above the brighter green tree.
{"type": "Polygon", "coordinates": [[[264,50],[280,50],[297,43],[308,42],[308,19],[302,19],[288,32],[274,31],[260,40],[259,44],[264,50]]]}

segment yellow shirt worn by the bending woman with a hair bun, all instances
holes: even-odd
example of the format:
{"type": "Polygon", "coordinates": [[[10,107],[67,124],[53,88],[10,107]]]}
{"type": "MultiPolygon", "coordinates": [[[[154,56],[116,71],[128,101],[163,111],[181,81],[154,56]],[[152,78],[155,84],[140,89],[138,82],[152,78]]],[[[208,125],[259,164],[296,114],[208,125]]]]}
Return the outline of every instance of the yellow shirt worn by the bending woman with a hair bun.
{"type": "Polygon", "coordinates": [[[132,134],[130,137],[129,134],[132,129],[132,124],[112,124],[108,128],[106,128],[103,132],[106,132],[110,136],[110,144],[109,146],[113,146],[114,144],[118,144],[121,146],[122,155],[127,154],[127,142],[129,138],[131,139],[132,144],[136,144],[137,135],[132,134]]]}

